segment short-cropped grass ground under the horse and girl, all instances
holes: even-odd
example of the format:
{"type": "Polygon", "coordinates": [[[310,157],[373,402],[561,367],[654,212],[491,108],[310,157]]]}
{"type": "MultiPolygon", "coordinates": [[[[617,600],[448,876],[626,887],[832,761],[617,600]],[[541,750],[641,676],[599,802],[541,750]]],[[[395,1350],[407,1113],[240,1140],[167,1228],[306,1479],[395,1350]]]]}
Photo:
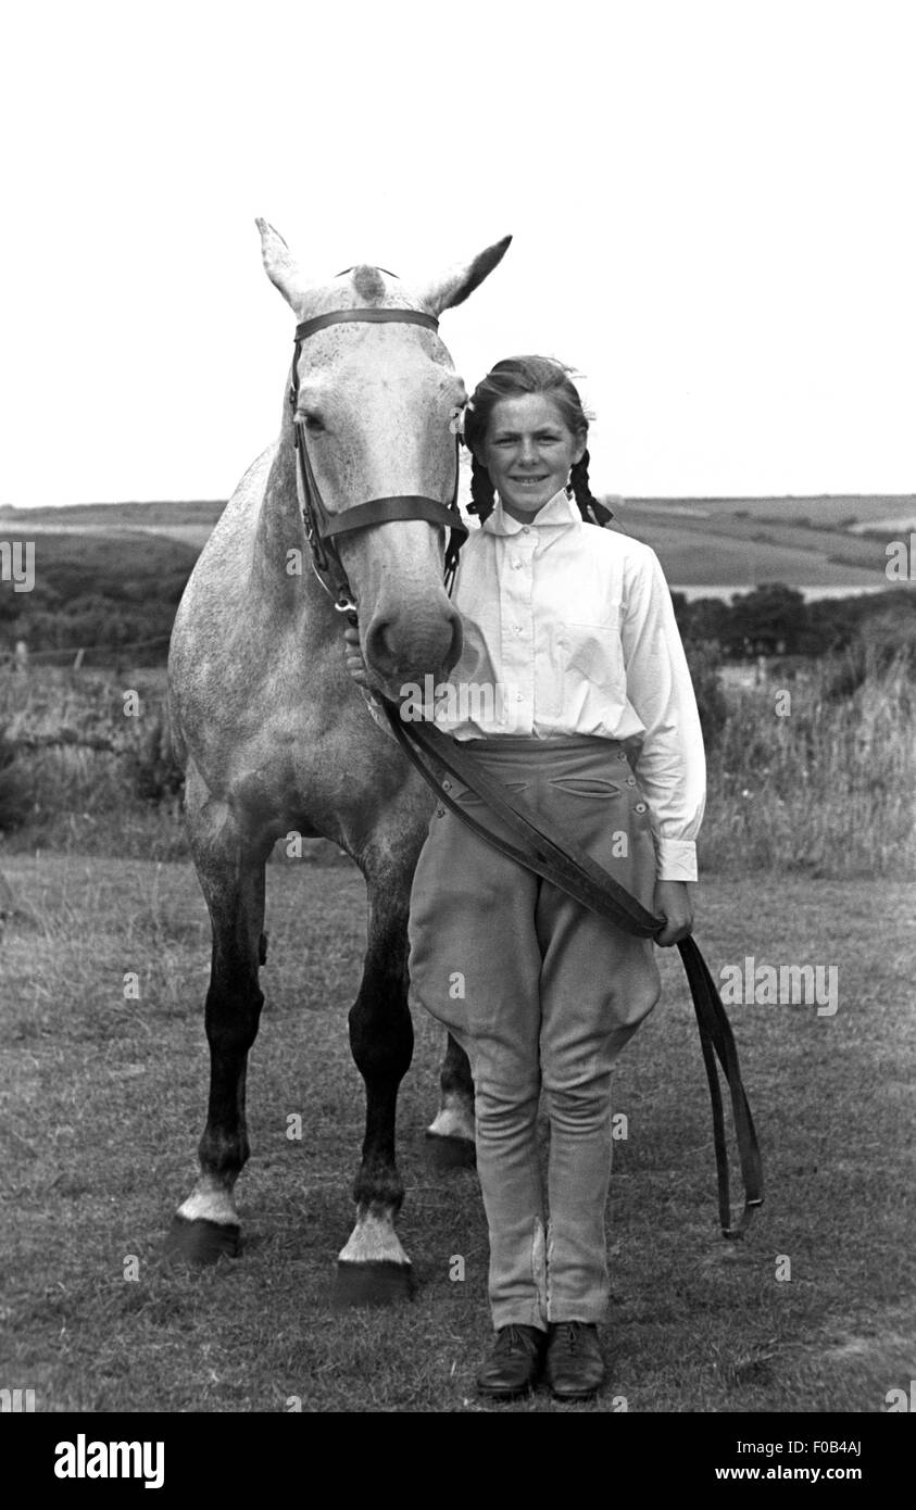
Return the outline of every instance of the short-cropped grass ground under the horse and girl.
{"type": "Polygon", "coordinates": [[[913,886],[748,876],[704,883],[697,936],[724,963],[822,963],[839,1009],[730,1009],[766,1205],[724,1244],[704,1077],[677,959],[621,1060],[608,1219],[609,1383],[484,1406],[487,1238],[476,1176],[434,1173],[438,1031],[416,1022],[401,1099],[402,1240],[417,1299],[331,1311],[352,1220],[361,1083],[346,1009],[364,935],[352,868],[269,871],[268,1007],[248,1077],[246,1246],[203,1274],[160,1244],[193,1178],[207,1060],[203,900],[186,864],[6,856],[0,997],[0,1383],[38,1410],[881,1412],[916,1377],[913,886]],[[141,1000],[125,1001],[136,971],[141,1000]],[[286,1137],[304,1116],[302,1142],[286,1137]],[[452,1259],[466,1261],[452,1282],[452,1259]],[[124,1277],[138,1261],[138,1277],[124,1277]],[[784,1259],[791,1261],[791,1277],[784,1259]]]}

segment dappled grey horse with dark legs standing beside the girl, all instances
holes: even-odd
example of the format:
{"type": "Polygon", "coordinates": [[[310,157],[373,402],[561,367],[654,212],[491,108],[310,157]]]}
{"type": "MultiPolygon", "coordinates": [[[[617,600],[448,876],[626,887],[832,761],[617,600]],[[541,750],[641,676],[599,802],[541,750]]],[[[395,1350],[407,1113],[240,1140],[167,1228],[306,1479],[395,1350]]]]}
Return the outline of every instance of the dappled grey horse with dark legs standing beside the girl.
{"type": "MultiPolygon", "coordinates": [[[[443,541],[456,501],[456,417],[467,396],[437,323],[493,272],[511,237],[423,284],[369,263],[316,284],[274,226],[255,223],[268,278],[299,325],[278,439],[245,473],[210,535],[169,646],[169,720],[210,915],[212,968],[200,1178],[174,1216],[166,1250],[192,1264],[239,1252],[234,1185],[249,1155],[245,1072],[263,1006],[265,865],[290,830],[325,837],[360,867],[369,906],[363,974],[349,1010],[366,1132],[336,1300],[388,1303],[414,1288],[396,1232],[404,1184],[395,1117],[413,1054],[410,888],[434,799],[372,693],[346,670],[337,610],[358,606],[360,648],[387,696],[398,698],[405,683],[425,686],[426,675],[447,675],[461,654],[461,619],[443,583],[443,541]],[[396,498],[379,497],[391,488],[396,498]],[[334,560],[349,590],[343,599],[334,601],[334,583],[319,565],[323,545],[307,507],[313,492],[323,524],[342,528],[334,560]],[[378,504],[387,512],[369,522],[366,510],[378,504]],[[360,510],[363,516],[349,528],[354,509],[352,519],[360,510]]],[[[450,1037],[428,1134],[441,1163],[473,1161],[470,1066],[450,1037]]]]}

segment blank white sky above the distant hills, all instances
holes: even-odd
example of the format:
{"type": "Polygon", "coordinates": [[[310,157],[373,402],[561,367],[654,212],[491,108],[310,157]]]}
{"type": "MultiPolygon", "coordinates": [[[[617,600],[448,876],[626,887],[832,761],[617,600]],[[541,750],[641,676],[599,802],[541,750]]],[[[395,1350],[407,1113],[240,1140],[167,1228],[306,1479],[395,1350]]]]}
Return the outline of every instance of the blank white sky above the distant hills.
{"type": "Polygon", "coordinates": [[[6,6],[0,504],[224,498],[277,435],[316,281],[582,374],[596,492],[916,492],[916,6],[6,6]]]}

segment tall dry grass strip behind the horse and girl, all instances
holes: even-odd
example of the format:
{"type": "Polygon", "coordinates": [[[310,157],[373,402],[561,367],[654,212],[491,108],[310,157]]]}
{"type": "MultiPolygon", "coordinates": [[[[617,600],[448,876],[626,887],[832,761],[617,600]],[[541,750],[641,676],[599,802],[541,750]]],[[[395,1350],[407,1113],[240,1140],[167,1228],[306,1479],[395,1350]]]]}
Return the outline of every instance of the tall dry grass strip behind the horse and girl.
{"type": "MultiPolygon", "coordinates": [[[[898,661],[837,699],[828,695],[831,675],[813,667],[784,687],[729,692],[727,719],[709,750],[703,873],[916,874],[913,683],[898,661]]],[[[5,779],[15,784],[24,818],[3,837],[5,849],[184,858],[177,796],[166,791],[154,802],[142,794],[169,776],[163,705],[162,670],[119,681],[50,669],[29,678],[0,673],[0,729],[14,747],[26,741],[12,776],[0,770],[0,829],[5,779]],[[127,689],[141,695],[136,719],[122,711],[127,689]],[[86,747],[92,740],[112,747],[86,747]]],[[[323,841],[307,849],[320,864],[339,859],[323,841]]]]}

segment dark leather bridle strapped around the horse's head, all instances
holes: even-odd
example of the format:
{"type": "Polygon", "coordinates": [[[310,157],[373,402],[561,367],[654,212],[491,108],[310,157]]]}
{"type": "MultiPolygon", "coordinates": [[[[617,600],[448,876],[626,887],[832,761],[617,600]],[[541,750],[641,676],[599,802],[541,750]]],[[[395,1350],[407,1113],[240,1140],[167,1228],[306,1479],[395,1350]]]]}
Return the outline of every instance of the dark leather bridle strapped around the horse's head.
{"type": "Polygon", "coordinates": [[[446,589],[450,590],[458,565],[458,551],[467,535],[467,525],[458,512],[458,435],[455,435],[455,486],[450,503],[440,503],[437,498],[425,498],[416,494],[401,494],[390,498],[369,498],[367,503],[357,503],[342,513],[328,512],[314,471],[311,470],[311,461],[308,459],[305,421],[296,418],[299,353],[302,341],[307,341],[310,335],[325,331],[330,325],[348,325],[354,320],[367,325],[423,325],[429,331],[438,329],[435,316],[423,314],[420,310],[333,310],[330,314],[319,314],[313,320],[305,320],[296,326],[293,378],[289,393],[296,442],[296,486],[299,489],[299,506],[305,522],[305,538],[311,551],[314,575],[322,587],[331,593],[334,607],[340,613],[354,613],[357,606],[337,553],[337,545],[334,544],[334,536],[349,535],[351,530],[366,530],[373,524],[390,524],[393,519],[426,519],[429,524],[441,524],[449,530],[444,583],[446,589]]]}

